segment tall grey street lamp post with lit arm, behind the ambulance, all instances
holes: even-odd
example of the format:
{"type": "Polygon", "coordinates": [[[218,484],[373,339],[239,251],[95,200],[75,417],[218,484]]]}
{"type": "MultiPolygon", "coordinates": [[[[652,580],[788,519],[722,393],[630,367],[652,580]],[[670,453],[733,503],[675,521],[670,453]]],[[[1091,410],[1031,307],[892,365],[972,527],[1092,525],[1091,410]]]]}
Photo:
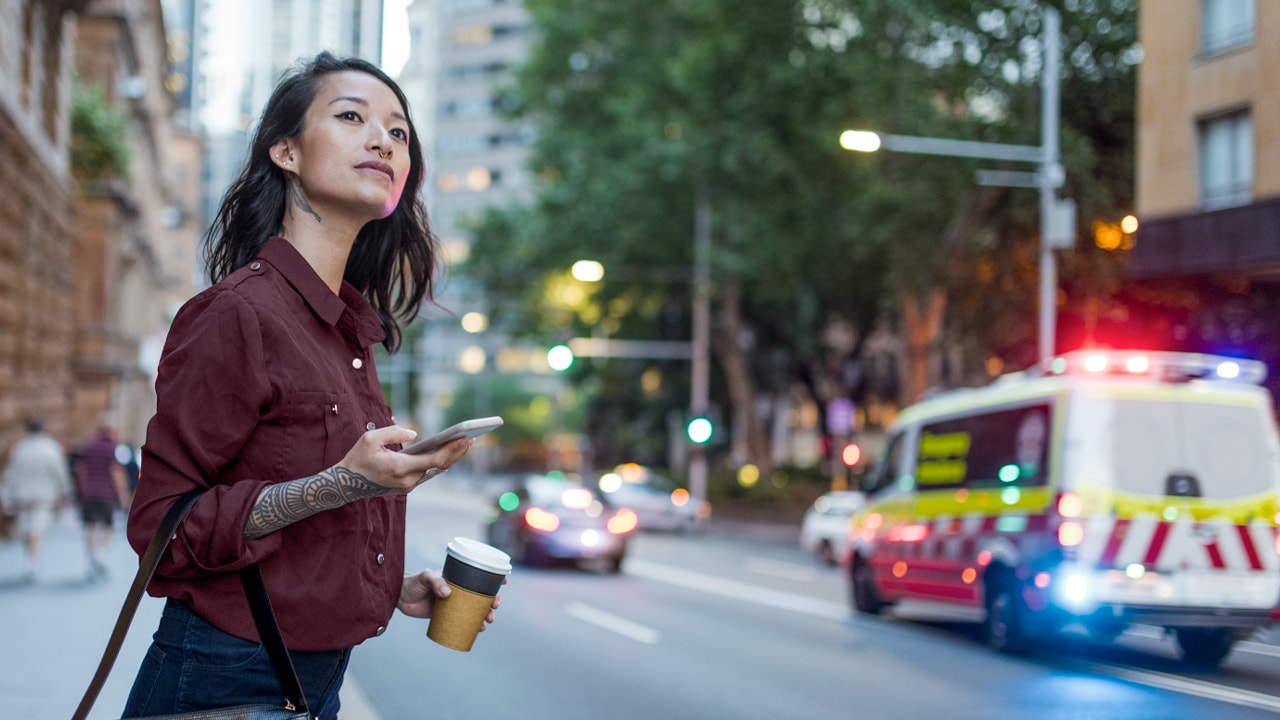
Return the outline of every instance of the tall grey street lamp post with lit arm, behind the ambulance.
{"type": "Polygon", "coordinates": [[[1041,247],[1039,247],[1039,337],[1041,363],[1053,356],[1056,323],[1057,266],[1053,250],[1070,247],[1075,241],[1075,202],[1059,200],[1055,191],[1062,186],[1062,165],[1059,163],[1060,101],[1060,27],[1061,19],[1053,8],[1044,8],[1044,32],[1041,38],[1044,67],[1041,72],[1041,143],[1005,145],[1000,142],[974,142],[905,135],[878,135],[869,131],[847,129],[840,135],[840,145],[846,150],[874,152],[879,149],[896,152],[946,155],[950,158],[977,158],[1034,163],[1034,173],[979,170],[978,183],[1002,187],[1034,187],[1039,190],[1041,247]]]}

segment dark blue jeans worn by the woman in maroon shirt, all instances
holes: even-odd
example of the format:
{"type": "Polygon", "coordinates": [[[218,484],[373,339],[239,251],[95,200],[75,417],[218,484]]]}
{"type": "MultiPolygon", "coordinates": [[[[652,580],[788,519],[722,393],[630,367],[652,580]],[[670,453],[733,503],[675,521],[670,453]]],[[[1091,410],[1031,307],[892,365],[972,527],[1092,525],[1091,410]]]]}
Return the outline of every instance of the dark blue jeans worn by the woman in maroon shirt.
{"type": "MultiPolygon", "coordinates": [[[[337,720],[338,691],[351,650],[289,651],[311,714],[337,720]]],[[[234,705],[284,705],[266,648],[210,625],[169,600],[133,680],[124,717],[172,715],[234,705]]]]}

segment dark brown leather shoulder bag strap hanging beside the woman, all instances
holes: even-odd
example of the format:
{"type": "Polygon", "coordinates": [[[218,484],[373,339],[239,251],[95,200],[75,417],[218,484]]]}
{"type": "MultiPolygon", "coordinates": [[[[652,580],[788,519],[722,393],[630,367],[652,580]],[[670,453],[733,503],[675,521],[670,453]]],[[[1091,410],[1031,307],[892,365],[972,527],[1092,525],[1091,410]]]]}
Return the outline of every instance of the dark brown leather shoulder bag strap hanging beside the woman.
{"type": "MultiPolygon", "coordinates": [[[[196,500],[204,492],[202,489],[195,489],[179,497],[169,507],[169,512],[165,514],[164,519],[160,520],[160,525],[156,527],[156,532],[151,536],[151,542],[147,544],[146,552],[142,553],[142,559],[138,561],[138,573],[129,587],[129,594],[124,598],[124,606],[120,607],[120,616],[115,620],[115,629],[111,630],[111,638],[102,652],[97,673],[93,674],[93,680],[88,684],[88,689],[84,691],[84,697],[81,698],[76,714],[72,715],[72,720],[84,720],[88,717],[88,711],[93,707],[97,694],[102,692],[106,676],[111,673],[111,666],[115,665],[115,659],[120,655],[124,635],[129,632],[133,616],[138,611],[142,593],[146,592],[147,584],[151,583],[151,578],[160,565],[160,556],[169,547],[169,541],[173,539],[174,532],[178,529],[182,519],[187,516],[187,511],[191,510],[191,506],[196,503],[196,500]]],[[[285,697],[294,710],[308,710],[306,697],[302,694],[302,684],[293,670],[289,650],[284,647],[280,628],[275,621],[275,612],[271,610],[271,602],[266,594],[266,585],[262,584],[262,574],[256,564],[241,571],[241,584],[244,585],[244,594],[248,597],[250,610],[253,612],[253,624],[257,625],[257,633],[262,639],[262,644],[266,646],[268,656],[271,659],[271,669],[275,670],[275,676],[280,682],[285,697]]]]}

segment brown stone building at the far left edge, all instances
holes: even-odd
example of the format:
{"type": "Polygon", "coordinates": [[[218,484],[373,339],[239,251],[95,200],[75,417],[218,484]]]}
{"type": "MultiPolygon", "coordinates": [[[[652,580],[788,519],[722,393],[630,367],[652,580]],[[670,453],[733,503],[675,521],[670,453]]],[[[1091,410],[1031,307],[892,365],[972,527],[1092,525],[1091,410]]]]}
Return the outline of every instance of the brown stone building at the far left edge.
{"type": "Polygon", "coordinates": [[[28,415],[73,439],[69,97],[84,4],[0,0],[0,452],[28,415]]]}

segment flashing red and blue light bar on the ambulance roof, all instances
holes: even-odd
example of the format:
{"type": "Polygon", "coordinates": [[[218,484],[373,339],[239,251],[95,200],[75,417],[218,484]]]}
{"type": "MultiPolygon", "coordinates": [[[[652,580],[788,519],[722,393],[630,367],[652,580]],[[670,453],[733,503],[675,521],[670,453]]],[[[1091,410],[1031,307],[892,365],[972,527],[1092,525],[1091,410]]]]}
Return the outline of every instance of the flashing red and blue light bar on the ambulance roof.
{"type": "Polygon", "coordinates": [[[1134,375],[1166,382],[1202,379],[1251,384],[1262,384],[1267,377],[1267,366],[1260,360],[1135,350],[1076,350],[1050,359],[1042,372],[1046,375],[1134,375]]]}

